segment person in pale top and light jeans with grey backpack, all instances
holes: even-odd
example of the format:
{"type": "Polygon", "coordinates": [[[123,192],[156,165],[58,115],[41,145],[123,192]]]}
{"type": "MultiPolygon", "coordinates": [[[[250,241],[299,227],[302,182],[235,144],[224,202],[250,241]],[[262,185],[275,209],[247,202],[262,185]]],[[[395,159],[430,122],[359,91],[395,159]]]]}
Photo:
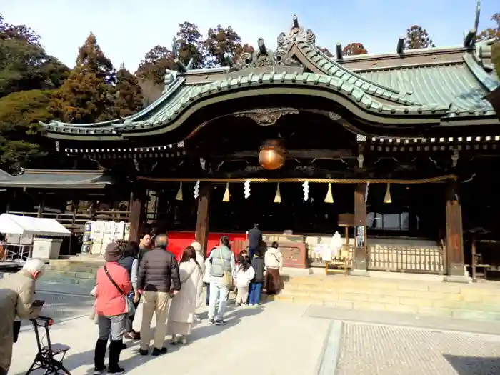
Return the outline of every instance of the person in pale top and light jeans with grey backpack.
{"type": "Polygon", "coordinates": [[[224,326],[226,324],[224,312],[235,269],[234,254],[229,249],[228,236],[222,236],[219,247],[211,251],[210,262],[209,324],[224,326]],[[217,300],[219,300],[219,309],[214,319],[217,300]]]}

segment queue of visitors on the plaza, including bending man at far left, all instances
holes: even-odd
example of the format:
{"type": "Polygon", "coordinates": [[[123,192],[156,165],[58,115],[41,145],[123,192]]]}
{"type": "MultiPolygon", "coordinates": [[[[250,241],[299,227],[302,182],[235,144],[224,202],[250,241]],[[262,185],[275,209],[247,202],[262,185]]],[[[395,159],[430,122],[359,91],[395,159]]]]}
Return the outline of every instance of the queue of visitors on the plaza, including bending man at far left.
{"type": "MultiPolygon", "coordinates": [[[[261,290],[269,294],[279,290],[283,256],[275,242],[263,254],[252,249],[253,259],[241,251],[236,262],[229,237],[222,236],[219,246],[204,260],[201,244],[184,249],[179,263],[168,251],[168,237],[157,234],[154,241],[146,235],[141,244],[129,242],[124,250],[109,244],[104,252],[106,263],[97,271],[94,315],[99,334],[94,349],[94,374],[121,374],[124,338],[140,340],[139,354],[151,356],[167,352],[165,336],[171,344],[186,344],[196,321],[196,309],[204,301],[209,324],[224,325],[224,314],[233,285],[237,306],[258,305],[261,290]],[[203,286],[206,284],[206,299],[203,286]],[[141,331],[133,329],[136,309],[142,299],[141,331]],[[151,329],[155,316],[156,326],[151,329]],[[109,346],[108,346],[109,343],[109,346]],[[105,356],[109,349],[109,363],[105,356]]],[[[29,259],[17,274],[0,279],[0,375],[6,375],[14,343],[14,320],[38,316],[41,306],[34,300],[35,281],[44,274],[45,264],[29,259]]]]}

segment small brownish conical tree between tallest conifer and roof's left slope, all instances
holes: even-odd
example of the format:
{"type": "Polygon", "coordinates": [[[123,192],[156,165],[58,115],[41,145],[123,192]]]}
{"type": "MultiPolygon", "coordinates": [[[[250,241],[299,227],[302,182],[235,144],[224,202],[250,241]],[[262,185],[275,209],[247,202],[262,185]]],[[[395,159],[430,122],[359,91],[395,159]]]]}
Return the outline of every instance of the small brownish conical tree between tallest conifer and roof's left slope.
{"type": "Polygon", "coordinates": [[[126,117],[142,109],[142,90],[136,77],[122,64],[116,74],[114,107],[117,117],[126,117]]]}

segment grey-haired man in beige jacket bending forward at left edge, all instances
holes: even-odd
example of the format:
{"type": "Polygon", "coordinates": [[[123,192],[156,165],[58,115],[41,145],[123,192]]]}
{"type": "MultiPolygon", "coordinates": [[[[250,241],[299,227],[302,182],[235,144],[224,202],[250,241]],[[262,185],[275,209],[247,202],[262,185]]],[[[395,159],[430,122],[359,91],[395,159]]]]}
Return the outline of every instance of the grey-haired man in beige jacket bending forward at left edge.
{"type": "Polygon", "coordinates": [[[14,346],[14,321],[38,316],[43,302],[35,301],[35,281],[45,272],[40,259],[28,259],[16,274],[0,279],[0,375],[9,372],[14,346]]]}

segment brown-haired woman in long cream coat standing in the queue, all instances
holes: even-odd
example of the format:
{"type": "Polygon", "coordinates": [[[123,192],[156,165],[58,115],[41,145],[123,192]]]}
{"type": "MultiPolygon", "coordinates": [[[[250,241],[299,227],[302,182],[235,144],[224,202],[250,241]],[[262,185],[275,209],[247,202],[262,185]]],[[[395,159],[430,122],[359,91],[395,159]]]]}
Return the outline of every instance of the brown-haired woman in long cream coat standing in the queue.
{"type": "Polygon", "coordinates": [[[196,298],[200,280],[203,278],[201,267],[196,261],[196,251],[188,246],[182,253],[179,263],[181,290],[171,301],[169,320],[166,324],[166,334],[171,335],[171,344],[187,344],[187,337],[191,334],[191,326],[196,311],[196,298]]]}

